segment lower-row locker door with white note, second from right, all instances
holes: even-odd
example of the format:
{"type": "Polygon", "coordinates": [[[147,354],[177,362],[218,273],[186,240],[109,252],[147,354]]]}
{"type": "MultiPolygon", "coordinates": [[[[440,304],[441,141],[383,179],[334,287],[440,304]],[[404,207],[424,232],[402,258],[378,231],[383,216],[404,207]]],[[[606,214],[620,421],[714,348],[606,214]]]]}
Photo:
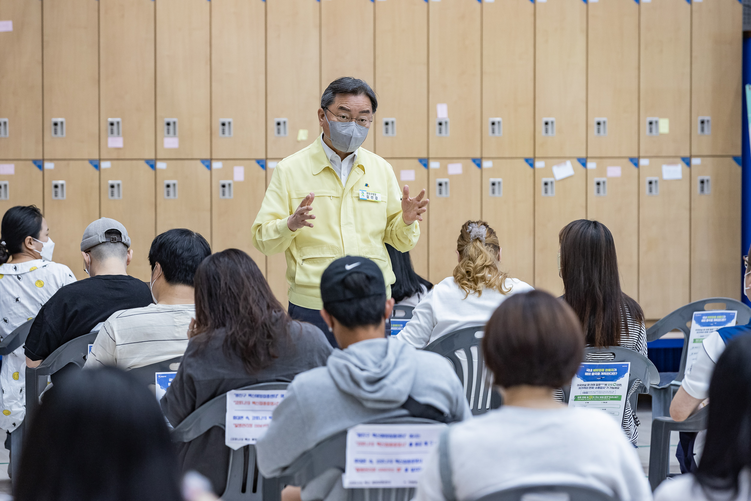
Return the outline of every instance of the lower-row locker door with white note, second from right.
{"type": "Polygon", "coordinates": [[[657,320],[690,300],[691,173],[677,157],[639,161],[639,303],[657,320]],[[665,180],[664,165],[680,165],[682,179],[665,180]],[[649,178],[658,183],[653,195],[649,178]]]}

